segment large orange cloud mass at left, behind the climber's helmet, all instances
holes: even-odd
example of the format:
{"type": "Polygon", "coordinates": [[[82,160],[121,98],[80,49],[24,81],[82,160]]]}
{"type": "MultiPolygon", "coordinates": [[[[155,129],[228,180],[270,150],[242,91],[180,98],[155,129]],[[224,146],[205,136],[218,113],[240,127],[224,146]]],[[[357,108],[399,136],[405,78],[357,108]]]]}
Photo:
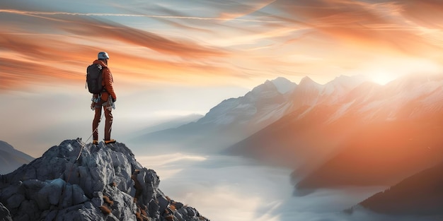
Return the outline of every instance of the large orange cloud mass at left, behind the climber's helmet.
{"type": "MultiPolygon", "coordinates": [[[[147,80],[185,79],[185,76],[207,75],[226,71],[212,64],[211,57],[227,56],[228,52],[205,47],[190,41],[170,40],[143,30],[91,18],[52,13],[15,13],[32,24],[2,26],[0,68],[2,90],[18,85],[51,80],[84,81],[86,66],[96,59],[97,52],[110,53],[113,72],[125,78],[147,80]],[[45,27],[46,32],[34,30],[45,27]],[[11,31],[11,30],[28,30],[11,31]],[[93,46],[91,46],[93,45],[93,46]],[[133,48],[132,51],[127,48],[133,48]],[[125,50],[126,49],[126,50],[125,50]],[[180,77],[178,77],[180,76],[180,77]]],[[[183,82],[183,81],[182,81],[183,82]]]]}

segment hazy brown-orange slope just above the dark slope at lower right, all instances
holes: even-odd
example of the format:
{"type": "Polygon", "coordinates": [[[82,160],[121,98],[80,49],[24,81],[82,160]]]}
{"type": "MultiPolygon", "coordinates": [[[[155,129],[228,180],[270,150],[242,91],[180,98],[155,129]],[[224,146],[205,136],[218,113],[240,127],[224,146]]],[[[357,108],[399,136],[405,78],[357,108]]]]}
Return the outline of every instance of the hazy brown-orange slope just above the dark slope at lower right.
{"type": "Polygon", "coordinates": [[[443,130],[435,128],[437,122],[390,121],[359,129],[297,188],[395,184],[442,159],[443,130]]]}

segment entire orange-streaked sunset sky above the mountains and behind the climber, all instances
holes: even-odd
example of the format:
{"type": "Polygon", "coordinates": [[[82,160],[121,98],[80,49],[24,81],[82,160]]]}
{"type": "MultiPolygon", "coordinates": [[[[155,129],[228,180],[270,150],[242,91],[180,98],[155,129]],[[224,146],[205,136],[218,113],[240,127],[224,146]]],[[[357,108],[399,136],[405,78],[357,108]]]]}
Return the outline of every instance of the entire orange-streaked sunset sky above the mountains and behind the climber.
{"type": "Polygon", "coordinates": [[[0,19],[0,140],[33,157],[90,135],[86,66],[101,51],[120,136],[277,77],[443,70],[439,0],[6,0],[0,19]]]}

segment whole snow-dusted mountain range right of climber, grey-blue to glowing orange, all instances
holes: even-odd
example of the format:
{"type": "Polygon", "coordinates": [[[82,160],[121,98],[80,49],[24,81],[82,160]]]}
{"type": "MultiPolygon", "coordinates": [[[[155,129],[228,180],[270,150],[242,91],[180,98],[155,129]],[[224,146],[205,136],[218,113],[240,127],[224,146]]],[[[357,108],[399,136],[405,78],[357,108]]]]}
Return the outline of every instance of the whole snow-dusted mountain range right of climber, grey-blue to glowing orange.
{"type": "MultiPolygon", "coordinates": [[[[299,84],[277,78],[224,100],[194,123],[150,133],[144,141],[173,138],[190,150],[292,168],[296,192],[393,186],[443,162],[442,122],[441,75],[405,76],[386,85],[358,76],[324,85],[308,77],[299,84]]],[[[427,179],[438,179],[434,175],[427,179]]]]}

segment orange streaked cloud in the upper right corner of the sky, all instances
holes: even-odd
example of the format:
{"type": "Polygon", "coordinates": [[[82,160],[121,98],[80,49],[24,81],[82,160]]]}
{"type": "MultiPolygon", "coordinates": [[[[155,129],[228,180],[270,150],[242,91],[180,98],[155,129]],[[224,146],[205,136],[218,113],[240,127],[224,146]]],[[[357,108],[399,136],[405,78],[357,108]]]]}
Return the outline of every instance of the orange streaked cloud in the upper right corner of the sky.
{"type": "MultiPolygon", "coordinates": [[[[408,2],[408,6],[412,3],[420,5],[420,10],[408,12],[408,7],[401,4],[401,1],[286,1],[286,4],[280,4],[279,7],[297,18],[294,21],[297,25],[310,28],[309,35],[328,42],[341,42],[343,47],[355,45],[369,52],[391,51],[414,56],[425,56],[435,51],[435,46],[440,50],[442,44],[430,42],[422,27],[408,22],[403,15],[432,13],[437,18],[442,6],[426,11],[427,7],[431,7],[430,2],[435,4],[437,1],[408,2]]],[[[428,21],[438,24],[437,20],[428,21]]]]}

